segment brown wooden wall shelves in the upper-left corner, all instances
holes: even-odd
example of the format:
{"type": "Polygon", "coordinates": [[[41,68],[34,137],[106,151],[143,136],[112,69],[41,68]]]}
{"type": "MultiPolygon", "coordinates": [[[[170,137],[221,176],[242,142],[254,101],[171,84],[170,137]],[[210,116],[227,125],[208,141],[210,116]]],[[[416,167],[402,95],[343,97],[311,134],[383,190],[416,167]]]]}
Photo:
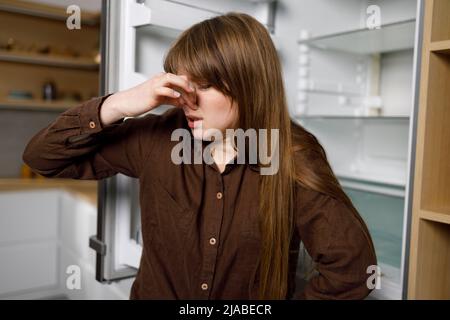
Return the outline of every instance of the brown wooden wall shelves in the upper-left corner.
{"type": "Polygon", "coordinates": [[[57,99],[98,95],[100,16],[83,10],[79,30],[67,28],[67,17],[64,7],[0,0],[0,69],[7,75],[0,78],[0,101],[14,90],[39,101],[49,80],[56,84],[57,99]]]}

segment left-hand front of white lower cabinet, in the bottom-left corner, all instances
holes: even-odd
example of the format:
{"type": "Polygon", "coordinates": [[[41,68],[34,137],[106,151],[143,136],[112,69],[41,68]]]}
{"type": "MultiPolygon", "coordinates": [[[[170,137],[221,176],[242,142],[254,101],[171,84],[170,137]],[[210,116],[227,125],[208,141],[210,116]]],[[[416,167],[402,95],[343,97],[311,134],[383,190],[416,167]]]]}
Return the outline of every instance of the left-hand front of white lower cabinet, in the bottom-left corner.
{"type": "Polygon", "coordinates": [[[0,193],[0,297],[57,288],[56,194],[0,193]]]}

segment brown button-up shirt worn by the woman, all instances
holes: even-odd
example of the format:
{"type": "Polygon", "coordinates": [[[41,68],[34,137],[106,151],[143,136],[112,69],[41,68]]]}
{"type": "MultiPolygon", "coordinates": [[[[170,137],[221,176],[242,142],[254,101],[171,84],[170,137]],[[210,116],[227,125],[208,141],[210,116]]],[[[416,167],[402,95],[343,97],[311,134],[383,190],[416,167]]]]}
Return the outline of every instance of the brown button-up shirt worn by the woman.
{"type": "MultiPolygon", "coordinates": [[[[143,252],[131,299],[257,299],[259,168],[174,164],[180,108],[103,126],[108,96],[60,114],[28,143],[23,160],[47,177],[139,178],[143,252]]],[[[202,143],[203,147],[205,142],[202,143]]],[[[303,156],[303,155],[299,155],[303,156]]],[[[314,159],[311,159],[314,161],[314,159]]],[[[297,185],[287,299],[360,299],[376,265],[370,234],[341,201],[297,185]],[[295,288],[300,241],[317,275],[295,288]]]]}

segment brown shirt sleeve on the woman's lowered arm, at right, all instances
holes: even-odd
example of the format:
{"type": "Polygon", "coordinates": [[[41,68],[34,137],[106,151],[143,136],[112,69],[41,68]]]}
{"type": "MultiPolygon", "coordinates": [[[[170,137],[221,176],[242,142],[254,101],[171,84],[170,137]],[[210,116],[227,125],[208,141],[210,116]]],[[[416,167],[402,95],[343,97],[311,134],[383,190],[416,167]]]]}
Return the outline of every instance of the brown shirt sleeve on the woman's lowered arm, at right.
{"type": "MultiPolygon", "coordinates": [[[[296,227],[317,274],[293,299],[363,299],[377,264],[369,231],[343,201],[303,187],[297,189],[296,227]],[[370,270],[370,269],[369,269],[370,270]]],[[[369,288],[370,287],[370,288],[369,288]]]]}

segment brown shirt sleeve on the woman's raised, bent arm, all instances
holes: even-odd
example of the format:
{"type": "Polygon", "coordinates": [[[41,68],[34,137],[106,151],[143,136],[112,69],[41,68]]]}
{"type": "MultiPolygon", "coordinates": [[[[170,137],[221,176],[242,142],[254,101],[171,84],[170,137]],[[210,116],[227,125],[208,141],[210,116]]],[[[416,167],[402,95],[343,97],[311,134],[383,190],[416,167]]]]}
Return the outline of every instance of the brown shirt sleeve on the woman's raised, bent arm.
{"type": "Polygon", "coordinates": [[[31,138],[23,161],[33,171],[53,178],[100,180],[116,173],[138,177],[151,150],[148,136],[156,126],[156,115],[103,126],[100,108],[108,96],[92,98],[61,113],[31,138]]]}

